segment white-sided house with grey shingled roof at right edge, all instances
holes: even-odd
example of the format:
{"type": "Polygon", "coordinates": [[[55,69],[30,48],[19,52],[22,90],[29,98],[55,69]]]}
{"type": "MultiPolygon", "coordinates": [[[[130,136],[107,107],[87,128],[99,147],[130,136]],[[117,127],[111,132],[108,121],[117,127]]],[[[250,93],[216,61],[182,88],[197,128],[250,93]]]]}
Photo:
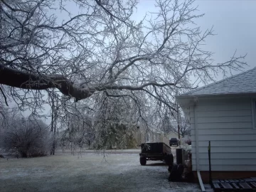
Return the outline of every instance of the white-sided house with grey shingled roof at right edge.
{"type": "MultiPolygon", "coordinates": [[[[176,96],[191,123],[193,173],[256,176],[256,68],[176,96]]],[[[196,175],[197,176],[197,175],[196,175]]]]}

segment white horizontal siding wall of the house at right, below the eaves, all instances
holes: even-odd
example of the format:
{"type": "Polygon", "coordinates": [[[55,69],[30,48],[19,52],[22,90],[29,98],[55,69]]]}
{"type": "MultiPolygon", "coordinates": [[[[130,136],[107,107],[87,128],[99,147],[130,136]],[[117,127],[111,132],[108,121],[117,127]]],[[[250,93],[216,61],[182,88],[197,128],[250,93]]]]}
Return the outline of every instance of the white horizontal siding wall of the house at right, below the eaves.
{"type": "Polygon", "coordinates": [[[208,141],[212,171],[256,171],[256,129],[252,128],[250,98],[198,100],[195,108],[189,107],[189,117],[193,171],[208,171],[208,141]]]}

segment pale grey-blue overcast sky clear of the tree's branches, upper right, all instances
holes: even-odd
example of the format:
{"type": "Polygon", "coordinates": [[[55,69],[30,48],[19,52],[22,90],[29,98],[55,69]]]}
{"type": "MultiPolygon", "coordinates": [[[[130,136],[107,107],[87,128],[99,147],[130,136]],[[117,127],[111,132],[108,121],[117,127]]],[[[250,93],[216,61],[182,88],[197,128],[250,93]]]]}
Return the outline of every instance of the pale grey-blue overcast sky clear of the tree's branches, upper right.
{"type": "MultiPolygon", "coordinates": [[[[256,67],[256,1],[255,0],[196,0],[198,14],[205,14],[196,23],[203,31],[213,26],[216,36],[206,41],[205,50],[213,53],[216,63],[227,61],[237,50],[238,55],[245,55],[249,66],[256,67]]],[[[137,6],[137,18],[142,18],[146,11],[154,11],[154,0],[141,0],[137,6]]],[[[240,72],[234,72],[237,74],[240,72]]],[[[220,75],[216,80],[223,79],[220,75]]]]}

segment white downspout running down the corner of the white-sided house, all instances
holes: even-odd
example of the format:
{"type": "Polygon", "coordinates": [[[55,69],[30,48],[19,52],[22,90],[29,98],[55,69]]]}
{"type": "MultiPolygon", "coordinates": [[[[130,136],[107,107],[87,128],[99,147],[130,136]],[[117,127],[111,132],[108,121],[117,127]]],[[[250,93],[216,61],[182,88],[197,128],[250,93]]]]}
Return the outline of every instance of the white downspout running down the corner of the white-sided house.
{"type": "Polygon", "coordinates": [[[198,146],[198,128],[197,128],[197,115],[196,115],[196,102],[194,102],[193,105],[193,114],[194,114],[194,127],[195,127],[195,137],[196,137],[196,172],[198,175],[198,181],[201,186],[201,190],[203,192],[206,191],[206,188],[203,186],[203,181],[201,178],[200,174],[200,169],[199,169],[199,146],[198,146]]]}

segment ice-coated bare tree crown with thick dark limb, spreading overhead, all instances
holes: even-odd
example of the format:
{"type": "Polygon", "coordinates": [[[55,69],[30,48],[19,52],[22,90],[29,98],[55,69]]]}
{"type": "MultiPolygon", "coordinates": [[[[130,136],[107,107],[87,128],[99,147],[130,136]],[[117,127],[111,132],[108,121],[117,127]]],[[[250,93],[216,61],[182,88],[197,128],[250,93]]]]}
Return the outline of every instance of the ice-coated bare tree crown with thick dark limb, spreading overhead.
{"type": "Polygon", "coordinates": [[[156,0],[154,13],[142,21],[132,17],[137,3],[1,0],[1,95],[36,113],[55,90],[63,114],[72,98],[95,106],[119,97],[130,100],[140,121],[149,124],[146,109],[173,115],[176,90],[193,88],[191,77],[208,82],[245,65],[236,54],[215,63],[203,49],[213,29],[196,26],[203,15],[193,0],[156,0]]]}

